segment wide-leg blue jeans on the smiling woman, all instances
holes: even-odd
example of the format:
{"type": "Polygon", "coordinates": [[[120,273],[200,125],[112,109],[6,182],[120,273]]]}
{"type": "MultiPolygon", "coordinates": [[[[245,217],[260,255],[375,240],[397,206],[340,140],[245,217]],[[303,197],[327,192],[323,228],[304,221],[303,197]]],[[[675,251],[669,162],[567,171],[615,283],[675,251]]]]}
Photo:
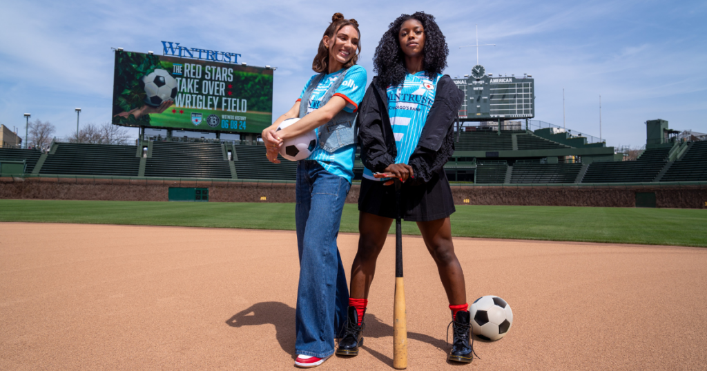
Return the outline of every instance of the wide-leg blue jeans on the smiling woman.
{"type": "Polygon", "coordinates": [[[332,355],[334,337],[346,319],[349,286],[337,235],[350,187],[348,180],[327,172],[317,161],[297,163],[297,354],[318,358],[332,355]]]}

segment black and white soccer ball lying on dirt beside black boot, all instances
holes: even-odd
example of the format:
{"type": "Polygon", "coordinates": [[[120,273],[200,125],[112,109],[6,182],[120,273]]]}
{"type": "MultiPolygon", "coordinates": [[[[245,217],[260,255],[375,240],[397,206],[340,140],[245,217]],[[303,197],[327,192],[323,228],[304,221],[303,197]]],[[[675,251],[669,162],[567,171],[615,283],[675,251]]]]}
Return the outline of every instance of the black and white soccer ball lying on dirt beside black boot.
{"type": "Polygon", "coordinates": [[[469,314],[472,316],[472,332],[484,340],[498,340],[506,336],[513,324],[510,305],[498,296],[478,298],[469,308],[469,314]]]}

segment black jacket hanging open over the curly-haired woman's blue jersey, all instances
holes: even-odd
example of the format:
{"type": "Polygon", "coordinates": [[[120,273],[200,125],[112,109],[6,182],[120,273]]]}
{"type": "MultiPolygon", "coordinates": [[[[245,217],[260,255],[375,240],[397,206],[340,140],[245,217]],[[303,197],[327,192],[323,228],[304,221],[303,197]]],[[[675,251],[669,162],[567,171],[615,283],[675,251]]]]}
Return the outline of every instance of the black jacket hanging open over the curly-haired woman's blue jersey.
{"type": "MultiPolygon", "coordinates": [[[[388,116],[387,94],[375,80],[374,77],[358,106],[356,125],[363,165],[373,172],[384,172],[385,167],[395,163],[397,148],[388,116]]],[[[411,184],[429,182],[454,153],[453,124],[462,100],[464,92],[450,76],[442,76],[420,140],[408,161],[414,172],[414,179],[408,180],[411,184]]]]}

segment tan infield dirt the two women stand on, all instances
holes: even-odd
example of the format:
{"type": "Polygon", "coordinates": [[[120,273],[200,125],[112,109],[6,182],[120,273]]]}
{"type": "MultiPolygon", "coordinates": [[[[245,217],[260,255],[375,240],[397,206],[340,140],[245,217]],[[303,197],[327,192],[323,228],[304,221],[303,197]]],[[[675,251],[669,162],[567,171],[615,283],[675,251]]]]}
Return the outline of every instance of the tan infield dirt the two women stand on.
{"type": "MultiPolygon", "coordinates": [[[[293,370],[294,232],[0,223],[1,370],[293,370]]],[[[348,270],[358,235],[339,235],[348,270]]],[[[365,346],[317,370],[391,370],[395,237],[365,346]]],[[[707,250],[455,238],[467,298],[513,308],[481,360],[445,359],[450,311],[404,236],[409,370],[704,370],[707,250]],[[457,368],[459,367],[459,368],[457,368]]],[[[347,272],[348,276],[348,272],[347,272]]]]}

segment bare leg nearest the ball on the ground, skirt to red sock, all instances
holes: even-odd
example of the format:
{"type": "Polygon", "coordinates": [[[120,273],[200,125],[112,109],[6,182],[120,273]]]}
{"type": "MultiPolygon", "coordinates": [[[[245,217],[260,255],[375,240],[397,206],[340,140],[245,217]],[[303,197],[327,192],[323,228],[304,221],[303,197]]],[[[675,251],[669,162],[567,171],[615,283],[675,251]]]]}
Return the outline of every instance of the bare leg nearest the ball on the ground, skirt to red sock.
{"type": "MultiPolygon", "coordinates": [[[[462,271],[459,259],[454,253],[449,218],[417,222],[417,227],[420,228],[427,250],[437,264],[437,270],[440,273],[440,279],[447,292],[450,305],[466,304],[467,288],[464,284],[464,271],[462,271]]],[[[360,245],[358,251],[361,252],[360,245]]],[[[366,293],[368,294],[368,291],[366,293]]]]}

